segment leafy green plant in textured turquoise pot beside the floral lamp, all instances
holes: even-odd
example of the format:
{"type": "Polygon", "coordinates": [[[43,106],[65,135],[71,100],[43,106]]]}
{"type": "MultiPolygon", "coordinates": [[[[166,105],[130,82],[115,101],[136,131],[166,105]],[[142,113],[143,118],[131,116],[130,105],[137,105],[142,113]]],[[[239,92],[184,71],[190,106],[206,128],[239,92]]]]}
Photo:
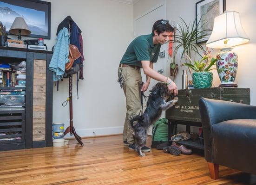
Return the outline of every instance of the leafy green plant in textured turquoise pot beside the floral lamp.
{"type": "Polygon", "coordinates": [[[182,66],[187,66],[194,71],[192,73],[194,88],[210,88],[212,86],[212,72],[210,72],[210,70],[216,69],[211,67],[216,65],[217,58],[210,58],[209,55],[204,55],[200,61],[194,60],[194,62],[192,62],[190,57],[187,57],[190,63],[184,63],[182,66]]]}

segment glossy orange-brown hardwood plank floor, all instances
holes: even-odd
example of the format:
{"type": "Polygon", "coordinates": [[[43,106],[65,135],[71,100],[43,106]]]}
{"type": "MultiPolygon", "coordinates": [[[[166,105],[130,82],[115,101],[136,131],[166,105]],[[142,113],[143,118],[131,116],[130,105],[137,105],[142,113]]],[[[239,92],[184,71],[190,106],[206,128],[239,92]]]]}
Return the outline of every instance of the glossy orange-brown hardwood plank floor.
{"type": "MultiPolygon", "coordinates": [[[[149,138],[149,144],[150,145],[149,138]]],[[[0,152],[0,185],[248,185],[250,176],[220,166],[212,180],[203,155],[152,149],[139,157],[122,136],[75,140],[65,147],[0,152]]]]}

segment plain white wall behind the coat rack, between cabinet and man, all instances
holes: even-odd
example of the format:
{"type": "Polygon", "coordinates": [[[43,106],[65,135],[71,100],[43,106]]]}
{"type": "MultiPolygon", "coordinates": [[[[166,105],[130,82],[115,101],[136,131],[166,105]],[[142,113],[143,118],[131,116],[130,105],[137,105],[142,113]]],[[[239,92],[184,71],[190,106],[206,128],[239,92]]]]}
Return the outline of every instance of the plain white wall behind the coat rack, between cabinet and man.
{"type": "MultiPolygon", "coordinates": [[[[70,15],[82,30],[84,80],[73,80],[73,125],[80,136],[123,132],[125,97],[117,82],[117,70],[127,45],[133,38],[133,6],[113,0],[47,0],[52,2],[51,40],[55,44],[59,23],[70,15]],[[96,134],[93,134],[92,132],[96,134]]],[[[16,37],[16,36],[15,36],[16,37]]],[[[22,37],[26,39],[26,37],[22,37]]],[[[68,80],[53,88],[53,122],[69,125],[68,80]]]]}

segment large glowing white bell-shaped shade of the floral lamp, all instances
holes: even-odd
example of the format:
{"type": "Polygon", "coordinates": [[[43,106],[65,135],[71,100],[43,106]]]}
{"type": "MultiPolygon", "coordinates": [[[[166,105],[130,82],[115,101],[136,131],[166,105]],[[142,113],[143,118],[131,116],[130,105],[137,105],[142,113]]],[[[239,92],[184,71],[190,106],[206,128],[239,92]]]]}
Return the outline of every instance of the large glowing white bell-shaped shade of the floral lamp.
{"type": "Polygon", "coordinates": [[[243,30],[239,13],[225,11],[214,19],[213,30],[206,46],[223,49],[248,42],[249,37],[243,30]]]}

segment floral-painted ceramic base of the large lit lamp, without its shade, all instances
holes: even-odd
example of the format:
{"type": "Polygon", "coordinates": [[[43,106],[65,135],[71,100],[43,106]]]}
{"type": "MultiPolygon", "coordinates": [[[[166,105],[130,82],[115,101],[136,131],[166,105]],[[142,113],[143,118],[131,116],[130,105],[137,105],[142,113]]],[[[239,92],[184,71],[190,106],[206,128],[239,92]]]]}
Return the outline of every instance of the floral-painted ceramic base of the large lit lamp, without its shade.
{"type": "Polygon", "coordinates": [[[236,79],[238,56],[231,51],[231,48],[222,50],[217,54],[217,71],[221,80],[220,86],[232,86],[236,79]]]}

